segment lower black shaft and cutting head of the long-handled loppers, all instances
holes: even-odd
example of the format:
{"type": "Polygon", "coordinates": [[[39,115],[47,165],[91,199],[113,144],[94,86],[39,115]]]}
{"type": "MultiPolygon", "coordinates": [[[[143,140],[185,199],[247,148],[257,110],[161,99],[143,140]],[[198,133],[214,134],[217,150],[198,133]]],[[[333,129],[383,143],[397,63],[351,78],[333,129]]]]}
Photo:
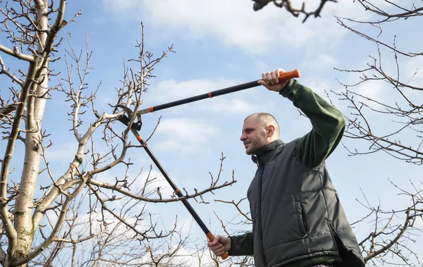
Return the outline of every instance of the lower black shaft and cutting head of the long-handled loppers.
{"type": "MultiPolygon", "coordinates": [[[[128,116],[129,117],[123,115],[123,116],[121,116],[121,118],[118,118],[118,120],[121,121],[121,123],[123,123],[123,124],[125,124],[125,125],[128,126],[129,123],[130,123],[130,118],[132,117],[132,115],[131,115],[132,114],[132,111],[127,106],[118,105],[117,107],[118,108],[123,108],[123,110],[125,110],[125,112],[128,113],[128,116]]],[[[154,162],[154,164],[156,164],[157,168],[160,170],[160,172],[164,176],[164,178],[166,178],[166,180],[168,181],[168,183],[171,185],[171,187],[174,190],[175,194],[178,197],[184,197],[183,194],[182,194],[182,192],[180,192],[180,189],[176,186],[175,182],[173,182],[172,178],[168,175],[168,173],[166,173],[166,170],[164,170],[163,166],[161,166],[161,163],[159,162],[159,160],[156,158],[156,156],[154,156],[154,154],[151,151],[151,149],[149,149],[149,147],[147,147],[147,144],[142,139],[142,136],[140,135],[140,132],[138,132],[139,130],[141,130],[141,126],[142,126],[141,116],[139,114],[137,115],[137,120],[138,121],[136,123],[133,123],[130,126],[131,132],[133,132],[133,134],[137,138],[138,142],[140,142],[140,144],[142,144],[142,147],[144,147],[145,151],[147,151],[147,154],[152,159],[152,161],[154,162]]],[[[188,200],[187,199],[181,199],[181,201],[185,205],[185,208],[187,208],[188,211],[191,213],[191,216],[195,219],[195,221],[198,223],[198,225],[200,225],[200,228],[206,234],[206,236],[209,239],[209,241],[212,242],[214,240],[214,235],[212,234],[212,232],[209,231],[209,229],[207,228],[207,226],[203,223],[203,221],[201,220],[200,216],[198,216],[198,214],[192,208],[192,206],[190,205],[190,203],[188,202],[188,200]]],[[[226,259],[227,257],[228,257],[228,253],[225,252],[225,254],[223,254],[223,256],[222,256],[222,259],[226,259]]]]}

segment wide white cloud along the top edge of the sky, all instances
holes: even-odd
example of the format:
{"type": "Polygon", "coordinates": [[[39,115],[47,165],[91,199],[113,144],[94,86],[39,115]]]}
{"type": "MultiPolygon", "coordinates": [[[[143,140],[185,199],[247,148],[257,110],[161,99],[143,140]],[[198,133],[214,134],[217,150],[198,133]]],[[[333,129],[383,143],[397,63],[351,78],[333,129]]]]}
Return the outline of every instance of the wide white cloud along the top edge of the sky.
{"type": "MultiPolygon", "coordinates": [[[[311,10],[319,2],[307,1],[307,8],[311,10]]],[[[333,15],[356,19],[370,15],[353,1],[326,4],[321,13],[323,18],[309,18],[304,24],[301,18],[294,18],[273,5],[255,12],[252,1],[246,0],[102,0],[102,3],[104,9],[117,15],[119,20],[140,20],[143,14],[143,20],[158,30],[162,38],[216,37],[223,45],[238,46],[252,54],[266,53],[280,48],[283,43],[308,46],[313,40],[314,44],[318,41],[333,44],[348,33],[336,25],[333,15]]]]}

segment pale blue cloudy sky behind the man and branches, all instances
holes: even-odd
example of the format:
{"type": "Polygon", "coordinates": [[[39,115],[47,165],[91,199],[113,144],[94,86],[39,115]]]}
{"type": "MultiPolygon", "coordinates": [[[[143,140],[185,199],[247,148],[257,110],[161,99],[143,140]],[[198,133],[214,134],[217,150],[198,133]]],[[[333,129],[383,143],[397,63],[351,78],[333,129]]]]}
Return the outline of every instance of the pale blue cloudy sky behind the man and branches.
{"type": "MultiPolygon", "coordinates": [[[[359,4],[352,2],[329,2],[321,13],[323,18],[309,18],[304,24],[301,23],[302,19],[293,18],[272,5],[254,12],[252,1],[247,0],[68,2],[66,18],[71,18],[80,9],[82,15],[63,30],[62,36],[65,37],[65,32],[71,32],[75,50],[84,49],[85,37],[89,37],[89,46],[93,51],[90,66],[94,69],[90,71],[88,82],[92,90],[102,82],[96,102],[99,111],[111,112],[107,103],[110,99],[114,100],[114,88],[120,85],[123,58],[128,60],[137,57],[135,39],[141,39],[141,21],[145,25],[145,45],[149,51],[159,56],[171,44],[176,51],[155,68],[154,75],[157,78],[151,81],[149,92],[144,96],[145,107],[257,80],[263,72],[276,68],[299,68],[302,74],[299,81],[326,98],[325,90],[341,92],[343,89],[336,79],[345,83],[358,80],[356,75],[340,73],[333,68],[365,68],[366,63],[371,63],[369,55],[376,55],[377,52],[373,43],[348,32],[333,18],[333,15],[372,18],[359,4]]],[[[411,1],[403,2],[405,6],[410,6],[411,1]]],[[[316,4],[317,1],[307,1],[309,8],[316,4]]],[[[423,39],[421,35],[415,35],[418,28],[415,23],[398,21],[388,26],[384,28],[381,39],[391,44],[393,35],[397,35],[398,47],[405,51],[421,49],[419,46],[423,39]]],[[[375,27],[360,28],[369,34],[377,32],[375,27]]],[[[63,42],[61,48],[65,47],[66,43],[63,42]]],[[[388,52],[384,55],[386,70],[395,70],[392,55],[388,52]]],[[[404,79],[408,80],[406,77],[411,77],[422,63],[421,58],[401,58],[404,79]]],[[[54,66],[64,70],[63,62],[55,63],[54,66]]],[[[422,73],[418,73],[412,82],[422,85],[422,73]]],[[[364,83],[356,90],[388,102],[398,97],[390,87],[376,82],[364,83]]],[[[410,94],[415,97],[415,93],[410,94]]],[[[54,93],[54,96],[60,99],[58,93],[54,93]]],[[[346,103],[332,97],[333,103],[347,114],[346,103]]],[[[44,128],[49,129],[51,139],[54,140],[54,147],[49,149],[49,153],[56,175],[63,173],[73,158],[73,152],[69,151],[76,151],[75,139],[68,132],[71,128],[71,122],[66,120],[68,111],[70,108],[64,106],[62,101],[51,101],[47,114],[54,113],[56,118],[47,116],[44,120],[44,128]],[[55,127],[48,128],[52,125],[55,127]]],[[[216,175],[221,153],[226,156],[221,179],[231,180],[234,170],[238,182],[219,190],[215,195],[207,194],[205,199],[211,202],[209,205],[191,201],[215,235],[223,231],[214,212],[223,221],[231,220],[237,213],[233,206],[216,204],[214,199],[238,201],[246,197],[247,187],[255,173],[256,166],[245,155],[239,141],[243,119],[254,112],[274,114],[281,125],[281,139],[285,142],[305,135],[310,130],[307,118],[299,116],[288,99],[268,92],[264,87],[143,116],[142,134],[146,137],[161,116],[161,123],[149,141],[149,146],[181,188],[185,187],[192,192],[194,187],[208,187],[209,171],[216,175]]],[[[86,118],[88,122],[92,116],[86,118]]],[[[388,132],[398,127],[386,118],[370,118],[376,123],[376,132],[388,132]]],[[[416,146],[418,141],[409,135],[403,138],[403,142],[409,142],[410,146],[416,146]]],[[[346,138],[343,142],[350,148],[367,149],[369,146],[366,142],[346,138]]],[[[151,164],[142,149],[132,151],[130,156],[137,168],[147,168],[151,164]]],[[[350,157],[342,146],[336,149],[326,163],[350,222],[367,214],[367,210],[356,201],[364,200],[360,189],[374,206],[379,204],[380,199],[384,209],[405,208],[410,200],[398,197],[398,191],[389,184],[388,178],[406,189],[410,189],[409,179],[416,183],[421,179],[418,166],[403,163],[383,153],[350,157]]],[[[137,168],[133,174],[137,173],[137,168]]],[[[118,170],[111,170],[104,175],[111,178],[122,174],[118,170]]],[[[166,187],[166,183],[161,183],[161,186],[166,187]]],[[[153,204],[149,209],[160,211],[164,221],[179,214],[182,218],[180,221],[186,225],[194,223],[181,203],[153,204]]],[[[246,202],[243,209],[248,211],[246,202]]],[[[419,224],[423,226],[422,222],[419,224]]],[[[357,227],[358,239],[367,236],[371,229],[370,223],[357,227]]],[[[202,231],[195,223],[192,225],[192,235],[202,237],[202,231]]],[[[421,243],[420,239],[416,246],[421,247],[421,243]]]]}

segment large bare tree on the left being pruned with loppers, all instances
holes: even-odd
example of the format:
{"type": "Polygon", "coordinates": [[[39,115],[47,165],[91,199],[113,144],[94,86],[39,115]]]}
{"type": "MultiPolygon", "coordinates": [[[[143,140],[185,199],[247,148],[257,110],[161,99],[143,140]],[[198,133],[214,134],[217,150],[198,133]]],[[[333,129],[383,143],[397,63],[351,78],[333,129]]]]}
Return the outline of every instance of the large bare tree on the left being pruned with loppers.
{"type": "MultiPolygon", "coordinates": [[[[2,266],[182,264],[174,255],[188,241],[180,235],[177,220],[171,228],[159,225],[159,214],[148,211],[147,203],[202,197],[235,180],[212,180],[204,190],[192,194],[185,191],[181,198],[163,194],[159,178],[151,168],[144,171],[140,166],[133,166],[128,151],[141,146],[130,141],[131,125],[137,119],[135,114],[142,105],[148,82],[154,77],[154,66],[173,48],[168,47],[155,58],[145,48],[142,32],[137,42],[139,56],[130,60],[135,69],[124,66],[116,101],[110,104],[109,113],[100,112],[94,106],[100,85],[92,88],[87,83],[91,70],[88,43],[85,53],[74,51],[68,35],[66,53],[59,50],[61,30],[81,14],[78,12],[65,20],[65,8],[65,0],[6,1],[0,8],[1,36],[2,40],[8,40],[7,45],[0,44],[0,77],[4,77],[0,99],[1,142],[4,143],[0,173],[0,263],[2,266]],[[53,67],[60,63],[66,66],[65,76],[54,72],[53,67]],[[76,141],[74,151],[70,152],[75,156],[59,177],[54,175],[54,166],[49,163],[52,136],[42,125],[43,120],[56,115],[44,112],[47,104],[54,101],[52,92],[61,92],[70,104],[70,128],[76,141]],[[118,120],[128,109],[133,111],[133,116],[125,126],[118,120]],[[23,160],[16,157],[18,152],[24,155],[23,160]],[[104,173],[112,168],[123,175],[106,179],[104,173]],[[130,175],[130,168],[138,175],[130,175]],[[22,173],[18,175],[16,170],[20,169],[22,173]]],[[[54,170],[57,172],[57,168],[54,170]]]]}

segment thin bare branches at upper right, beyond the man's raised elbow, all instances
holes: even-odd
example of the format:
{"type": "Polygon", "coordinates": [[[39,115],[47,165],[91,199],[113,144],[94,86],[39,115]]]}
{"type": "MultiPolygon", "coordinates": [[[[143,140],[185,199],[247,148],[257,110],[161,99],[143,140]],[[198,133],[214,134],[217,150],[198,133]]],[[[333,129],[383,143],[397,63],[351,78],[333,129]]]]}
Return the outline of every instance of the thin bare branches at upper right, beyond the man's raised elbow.
{"type": "Polygon", "coordinates": [[[412,72],[403,71],[400,61],[407,61],[407,64],[410,65],[412,61],[417,61],[423,56],[423,51],[407,52],[405,49],[396,46],[396,37],[393,37],[393,44],[381,41],[379,37],[386,23],[393,23],[396,20],[407,20],[407,23],[415,23],[415,20],[422,20],[423,6],[417,8],[413,4],[411,8],[405,8],[386,1],[398,10],[395,13],[387,13],[369,1],[358,2],[367,12],[376,14],[378,19],[357,21],[349,18],[337,18],[338,23],[356,35],[374,42],[378,54],[370,56],[371,62],[360,70],[337,69],[341,72],[360,75],[360,80],[353,85],[341,83],[345,87],[345,91],[338,93],[338,96],[343,101],[348,102],[348,106],[351,108],[345,136],[364,139],[370,144],[368,151],[353,151],[350,149],[350,154],[360,155],[384,151],[397,159],[421,165],[423,163],[423,129],[420,126],[423,123],[423,106],[418,96],[423,87],[413,82],[413,79],[419,73],[419,69],[416,68],[412,72]],[[375,26],[379,29],[379,33],[376,37],[372,37],[366,32],[355,30],[349,24],[375,26]],[[385,66],[386,63],[382,62],[382,59],[386,58],[384,55],[392,56],[389,60],[396,63],[395,68],[391,70],[388,69],[388,66],[385,66]],[[355,92],[355,87],[369,82],[379,82],[380,85],[384,86],[385,94],[389,93],[392,96],[390,99],[395,99],[395,101],[372,99],[355,92]],[[413,94],[410,97],[411,92],[413,94]],[[373,118],[369,118],[371,116],[373,118]],[[391,120],[392,123],[389,126],[392,127],[376,128],[374,126],[376,116],[377,120],[384,118],[391,120]],[[386,132],[386,129],[391,128],[396,129],[386,132]]]}

